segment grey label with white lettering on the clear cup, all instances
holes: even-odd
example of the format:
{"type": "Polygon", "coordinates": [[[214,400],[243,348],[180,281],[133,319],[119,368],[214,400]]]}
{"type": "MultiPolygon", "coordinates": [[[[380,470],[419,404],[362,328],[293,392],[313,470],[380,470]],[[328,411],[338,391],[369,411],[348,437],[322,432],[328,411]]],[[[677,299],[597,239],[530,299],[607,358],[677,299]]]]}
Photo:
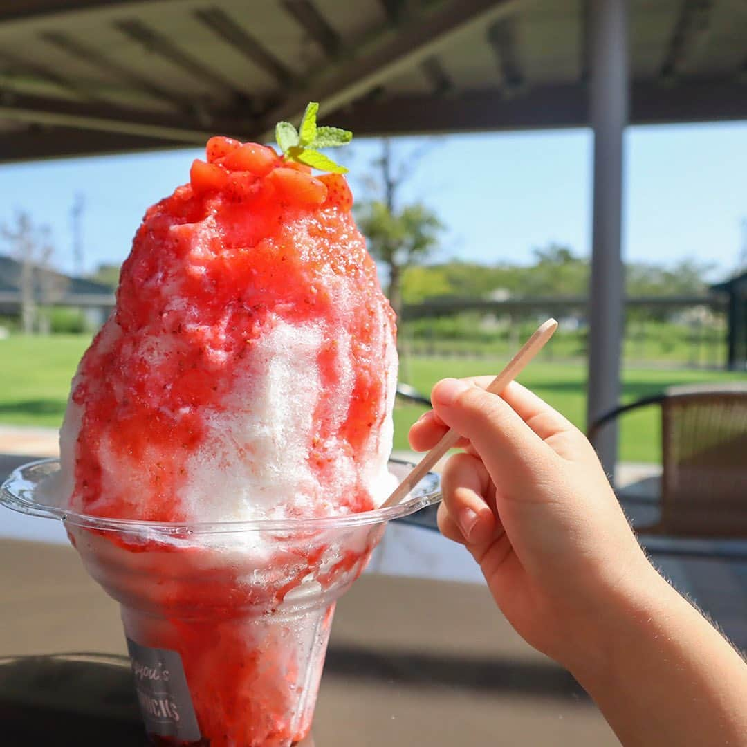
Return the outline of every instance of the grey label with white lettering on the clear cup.
{"type": "Polygon", "coordinates": [[[182,657],[167,648],[147,648],[127,639],[137,701],[146,731],[184,742],[200,739],[182,657]]]}

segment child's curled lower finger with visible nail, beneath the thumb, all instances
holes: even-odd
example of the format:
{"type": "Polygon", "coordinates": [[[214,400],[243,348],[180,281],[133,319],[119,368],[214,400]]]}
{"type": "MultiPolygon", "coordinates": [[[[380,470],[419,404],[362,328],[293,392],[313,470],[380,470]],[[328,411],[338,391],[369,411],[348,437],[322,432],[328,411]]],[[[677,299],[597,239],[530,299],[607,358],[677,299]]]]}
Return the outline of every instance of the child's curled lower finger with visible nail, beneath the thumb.
{"type": "Polygon", "coordinates": [[[438,527],[444,536],[468,545],[480,545],[490,539],[496,527],[490,488],[490,475],[477,456],[450,456],[441,477],[444,500],[439,508],[438,527]]]}

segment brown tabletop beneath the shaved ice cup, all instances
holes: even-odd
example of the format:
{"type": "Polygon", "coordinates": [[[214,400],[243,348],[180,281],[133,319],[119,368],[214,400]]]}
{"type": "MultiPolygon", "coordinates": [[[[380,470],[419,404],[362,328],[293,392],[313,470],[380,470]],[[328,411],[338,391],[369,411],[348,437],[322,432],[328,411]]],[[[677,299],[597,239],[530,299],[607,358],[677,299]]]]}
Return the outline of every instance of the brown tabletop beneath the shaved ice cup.
{"type": "MultiPolygon", "coordinates": [[[[0,540],[0,598],[0,656],[126,653],[117,604],[72,548],[0,540]]],[[[126,670],[106,661],[96,676],[47,666],[40,678],[33,663],[16,662],[9,675],[6,660],[0,675],[4,746],[45,743],[38,730],[48,725],[57,746],[100,745],[102,733],[122,740],[108,739],[112,747],[142,743],[126,670]]],[[[362,576],[335,613],[314,746],[483,742],[619,744],[573,678],[517,636],[484,586],[362,576]]]]}

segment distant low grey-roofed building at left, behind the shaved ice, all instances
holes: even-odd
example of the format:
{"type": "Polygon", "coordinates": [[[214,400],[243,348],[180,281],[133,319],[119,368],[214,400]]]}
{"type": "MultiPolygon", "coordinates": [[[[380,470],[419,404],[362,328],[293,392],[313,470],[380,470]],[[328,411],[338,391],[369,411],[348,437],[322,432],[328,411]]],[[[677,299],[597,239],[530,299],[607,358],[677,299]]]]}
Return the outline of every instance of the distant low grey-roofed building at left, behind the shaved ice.
{"type": "Polygon", "coordinates": [[[0,255],[0,314],[21,317],[24,304],[66,306],[80,309],[87,323],[99,327],[114,309],[114,291],[102,283],[65,275],[31,265],[24,279],[24,265],[0,255]],[[24,287],[25,286],[25,287],[24,287]]]}

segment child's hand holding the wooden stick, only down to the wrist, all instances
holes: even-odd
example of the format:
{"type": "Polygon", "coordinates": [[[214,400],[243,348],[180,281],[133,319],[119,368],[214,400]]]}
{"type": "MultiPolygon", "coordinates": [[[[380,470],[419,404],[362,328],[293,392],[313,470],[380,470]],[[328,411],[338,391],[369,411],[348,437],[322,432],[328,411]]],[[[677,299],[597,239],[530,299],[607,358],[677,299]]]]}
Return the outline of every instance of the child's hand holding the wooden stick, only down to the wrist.
{"type": "Polygon", "coordinates": [[[444,468],[438,527],[466,545],[518,633],[575,669],[604,648],[595,633],[615,599],[657,574],[589,441],[517,383],[484,391],[491,380],[439,382],[410,443],[427,450],[447,427],[464,437],[444,468]]]}

